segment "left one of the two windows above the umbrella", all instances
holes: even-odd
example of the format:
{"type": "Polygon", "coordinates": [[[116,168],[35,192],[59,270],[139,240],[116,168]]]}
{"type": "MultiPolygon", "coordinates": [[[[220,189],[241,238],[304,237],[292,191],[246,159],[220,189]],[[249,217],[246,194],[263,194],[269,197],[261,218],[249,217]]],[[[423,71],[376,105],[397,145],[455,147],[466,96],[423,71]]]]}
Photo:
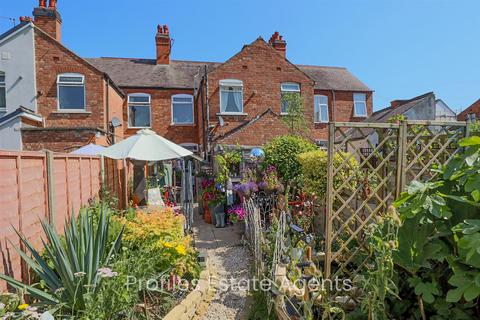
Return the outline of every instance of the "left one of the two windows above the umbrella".
{"type": "Polygon", "coordinates": [[[128,95],[128,127],[150,128],[150,95],[133,93],[128,95]]]}

